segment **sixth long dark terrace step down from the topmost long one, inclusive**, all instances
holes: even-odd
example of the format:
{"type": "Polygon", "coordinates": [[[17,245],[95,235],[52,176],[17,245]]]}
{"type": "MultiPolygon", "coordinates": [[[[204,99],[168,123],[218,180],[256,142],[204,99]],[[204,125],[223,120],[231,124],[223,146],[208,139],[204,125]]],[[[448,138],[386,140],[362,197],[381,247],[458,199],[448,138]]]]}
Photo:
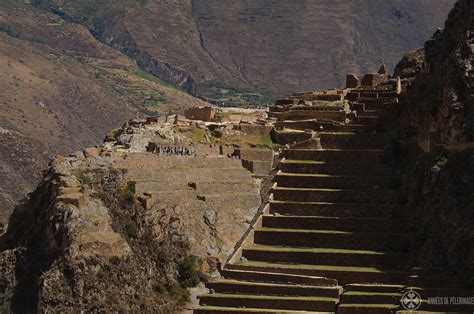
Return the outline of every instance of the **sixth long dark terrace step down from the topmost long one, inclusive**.
{"type": "Polygon", "coordinates": [[[353,218],[321,216],[263,216],[265,228],[339,230],[350,232],[402,232],[406,221],[393,218],[353,218]]]}

